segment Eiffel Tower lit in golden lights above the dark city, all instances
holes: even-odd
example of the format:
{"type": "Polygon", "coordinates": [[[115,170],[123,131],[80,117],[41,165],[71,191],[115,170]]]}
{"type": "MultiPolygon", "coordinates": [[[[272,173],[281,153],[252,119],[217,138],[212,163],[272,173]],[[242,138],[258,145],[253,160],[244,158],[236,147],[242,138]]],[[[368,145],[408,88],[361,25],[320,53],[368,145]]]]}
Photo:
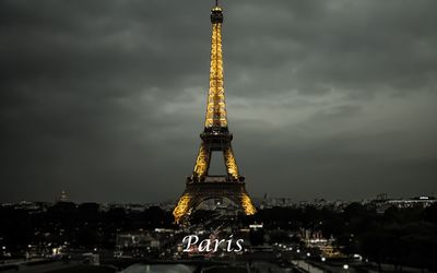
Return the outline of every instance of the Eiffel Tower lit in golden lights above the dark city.
{"type": "Polygon", "coordinates": [[[181,223],[205,200],[227,198],[239,205],[246,215],[255,214],[256,209],[246,192],[245,177],[239,175],[231,145],[233,134],[227,128],[225,90],[223,86],[222,23],[223,12],[217,1],[211,10],[212,39],[210,90],[208,93],[206,116],[199,155],[192,175],[187,178],[186,189],[173,211],[176,223],[181,223]],[[226,175],[210,176],[212,152],[222,152],[226,175]]]}

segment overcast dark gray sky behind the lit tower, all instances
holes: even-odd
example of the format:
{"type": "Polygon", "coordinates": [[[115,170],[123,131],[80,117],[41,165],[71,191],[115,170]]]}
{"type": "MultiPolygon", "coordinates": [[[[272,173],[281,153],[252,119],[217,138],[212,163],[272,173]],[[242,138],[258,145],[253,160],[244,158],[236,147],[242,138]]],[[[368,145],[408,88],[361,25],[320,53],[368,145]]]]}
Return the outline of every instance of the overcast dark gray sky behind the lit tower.
{"type": "MultiPolygon", "coordinates": [[[[208,0],[0,0],[0,201],[177,199],[208,0]]],[[[437,192],[437,1],[223,1],[229,129],[256,197],[437,192]]]]}

